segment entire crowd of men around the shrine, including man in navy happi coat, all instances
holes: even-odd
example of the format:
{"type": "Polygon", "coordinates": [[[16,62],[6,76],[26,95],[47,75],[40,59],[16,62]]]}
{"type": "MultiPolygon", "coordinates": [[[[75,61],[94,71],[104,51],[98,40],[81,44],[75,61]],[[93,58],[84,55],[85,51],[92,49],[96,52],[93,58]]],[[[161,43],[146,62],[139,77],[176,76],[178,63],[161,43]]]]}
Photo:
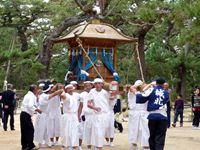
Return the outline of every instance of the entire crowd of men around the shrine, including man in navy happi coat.
{"type": "MultiPolygon", "coordinates": [[[[158,78],[150,84],[137,80],[130,87],[128,141],[131,150],[138,150],[138,145],[143,150],[164,149],[169,127],[169,90],[165,85],[165,80],[158,78]]],[[[54,85],[47,81],[41,83],[39,88],[37,85],[30,85],[20,114],[22,150],[54,145],[61,145],[62,149],[81,150],[82,143],[88,150],[102,150],[104,140],[106,144],[113,146],[114,124],[118,125],[113,110],[120,103],[117,100],[118,89],[116,81],[105,88],[104,81],[100,78],[93,82],[85,81],[81,92],[77,91],[76,81],[67,85],[54,85]],[[36,120],[33,124],[34,114],[36,120]]],[[[13,98],[13,93],[7,95],[13,98]]],[[[4,105],[5,109],[11,109],[11,106],[4,105]]],[[[197,115],[196,120],[198,119],[197,115]]],[[[14,130],[12,122],[11,117],[10,128],[14,130]]],[[[195,126],[196,122],[193,122],[195,126]]],[[[182,126],[182,121],[180,125],[182,126]]],[[[7,121],[4,130],[7,130],[7,121]]],[[[120,132],[122,131],[123,127],[120,127],[120,132]]]]}

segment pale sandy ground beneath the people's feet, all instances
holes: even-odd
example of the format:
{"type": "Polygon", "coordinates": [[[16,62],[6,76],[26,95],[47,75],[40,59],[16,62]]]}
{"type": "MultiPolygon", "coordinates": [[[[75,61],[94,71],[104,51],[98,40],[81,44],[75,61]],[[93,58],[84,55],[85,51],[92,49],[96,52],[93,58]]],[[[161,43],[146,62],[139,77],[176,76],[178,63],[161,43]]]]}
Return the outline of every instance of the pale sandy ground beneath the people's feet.
{"type": "MultiPolygon", "coordinates": [[[[129,150],[127,122],[123,123],[124,132],[116,132],[114,147],[105,146],[104,150],[129,150]]],[[[3,131],[0,127],[0,150],[21,150],[19,114],[15,115],[15,131],[3,131]]],[[[42,150],[61,150],[61,146],[41,148],[42,150]]],[[[194,130],[191,122],[184,122],[184,127],[170,128],[167,131],[165,150],[199,150],[200,130],[194,130]]],[[[83,150],[86,150],[83,146],[83,150]]]]}

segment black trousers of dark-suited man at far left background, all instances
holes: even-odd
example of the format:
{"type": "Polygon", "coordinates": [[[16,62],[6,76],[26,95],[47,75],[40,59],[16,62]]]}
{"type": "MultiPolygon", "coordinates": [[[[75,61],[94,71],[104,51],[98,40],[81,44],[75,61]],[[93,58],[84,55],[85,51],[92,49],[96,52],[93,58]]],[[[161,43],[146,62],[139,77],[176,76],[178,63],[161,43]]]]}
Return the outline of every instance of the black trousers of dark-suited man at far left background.
{"type": "Polygon", "coordinates": [[[14,109],[4,110],[3,115],[3,128],[7,130],[8,117],[10,116],[10,129],[14,130],[14,109]]]}

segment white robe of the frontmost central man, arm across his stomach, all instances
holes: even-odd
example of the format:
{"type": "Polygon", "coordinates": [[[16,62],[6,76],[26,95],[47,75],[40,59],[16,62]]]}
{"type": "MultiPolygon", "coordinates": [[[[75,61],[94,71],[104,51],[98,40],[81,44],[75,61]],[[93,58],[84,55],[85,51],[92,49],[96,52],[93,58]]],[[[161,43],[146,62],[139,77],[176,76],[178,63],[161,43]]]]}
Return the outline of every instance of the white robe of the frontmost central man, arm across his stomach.
{"type": "Polygon", "coordinates": [[[93,115],[91,143],[96,147],[103,147],[105,129],[108,127],[109,93],[104,89],[96,91],[94,88],[89,93],[89,100],[93,100],[95,107],[101,108],[101,112],[94,112],[93,115]]]}

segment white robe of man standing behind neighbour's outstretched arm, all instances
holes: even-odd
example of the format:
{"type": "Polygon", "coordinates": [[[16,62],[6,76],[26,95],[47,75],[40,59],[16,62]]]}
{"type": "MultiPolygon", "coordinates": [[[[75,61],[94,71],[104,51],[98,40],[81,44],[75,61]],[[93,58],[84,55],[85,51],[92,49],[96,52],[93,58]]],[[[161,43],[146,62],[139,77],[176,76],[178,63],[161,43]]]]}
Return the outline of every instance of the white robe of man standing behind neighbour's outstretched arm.
{"type": "Polygon", "coordinates": [[[47,133],[49,138],[59,137],[61,130],[60,96],[54,96],[48,104],[47,133]]]}

